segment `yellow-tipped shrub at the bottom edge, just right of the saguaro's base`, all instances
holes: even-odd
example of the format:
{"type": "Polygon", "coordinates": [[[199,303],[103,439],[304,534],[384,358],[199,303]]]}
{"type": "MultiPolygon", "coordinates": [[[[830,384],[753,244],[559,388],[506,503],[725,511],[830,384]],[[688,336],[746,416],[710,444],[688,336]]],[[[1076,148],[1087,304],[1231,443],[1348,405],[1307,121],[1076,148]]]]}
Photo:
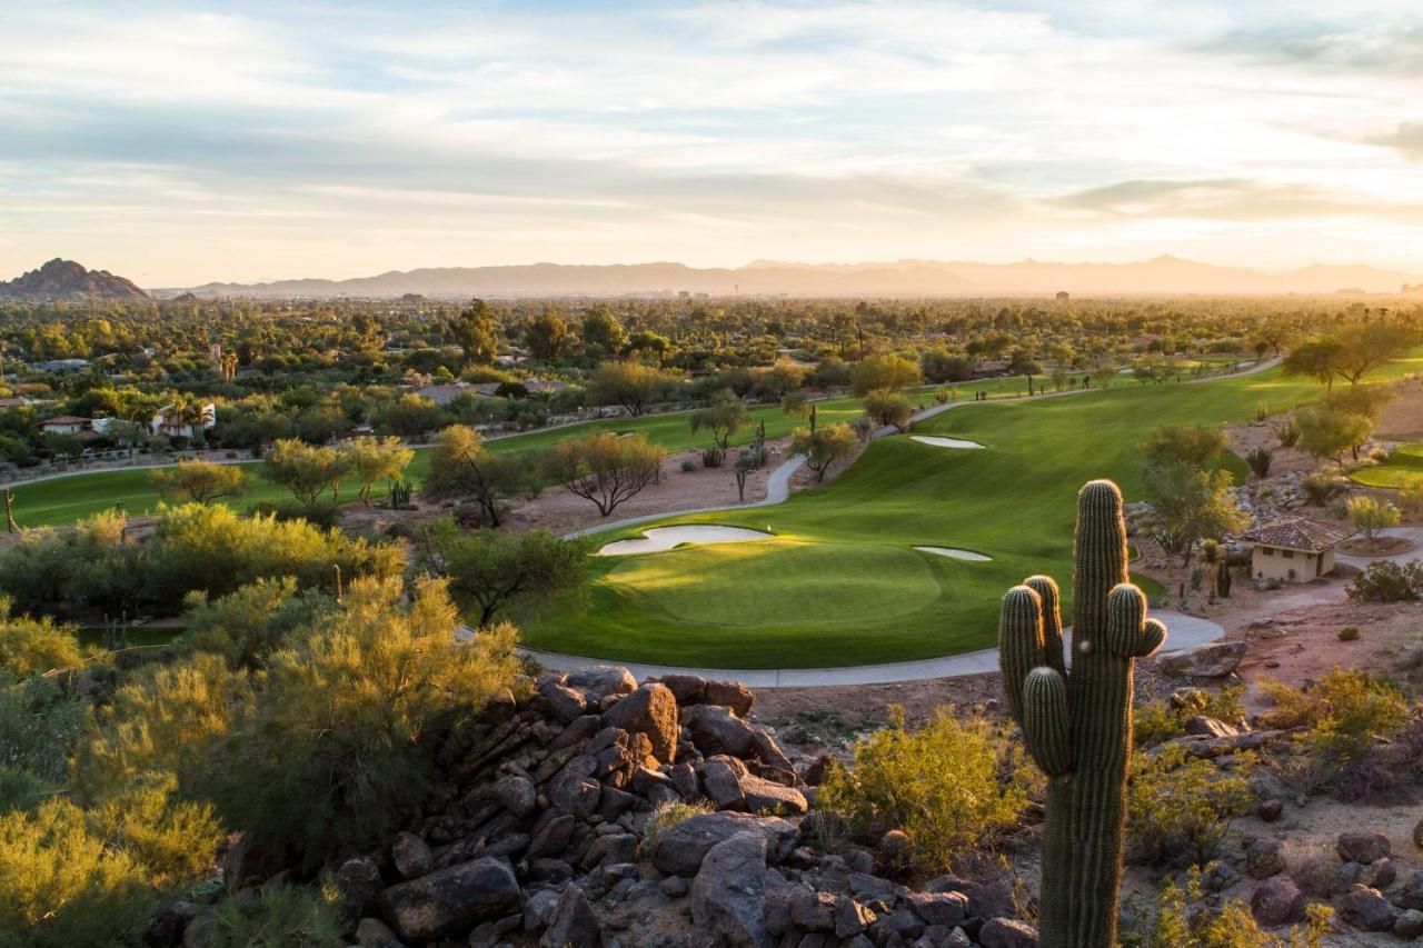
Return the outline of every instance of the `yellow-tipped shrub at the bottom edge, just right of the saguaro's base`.
{"type": "Polygon", "coordinates": [[[1328,905],[1309,905],[1303,925],[1275,935],[1264,931],[1249,905],[1238,898],[1192,911],[1187,900],[1195,902],[1202,892],[1200,870],[1191,870],[1184,890],[1167,880],[1155,918],[1146,931],[1123,937],[1124,948],[1319,948],[1331,931],[1333,910],[1328,905]]]}

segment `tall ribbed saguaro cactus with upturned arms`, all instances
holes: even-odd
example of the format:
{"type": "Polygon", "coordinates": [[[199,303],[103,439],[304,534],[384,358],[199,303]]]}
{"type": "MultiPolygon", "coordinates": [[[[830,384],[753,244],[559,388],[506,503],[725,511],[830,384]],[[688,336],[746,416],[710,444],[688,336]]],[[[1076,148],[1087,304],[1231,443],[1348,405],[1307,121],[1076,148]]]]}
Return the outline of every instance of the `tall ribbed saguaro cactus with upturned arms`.
{"type": "Polygon", "coordinates": [[[1110,948],[1131,757],[1136,659],[1165,641],[1127,579],[1121,491],[1090,481],[1077,494],[1072,670],[1063,656],[1057,584],[1029,576],[1003,596],[999,663],[1013,719],[1047,774],[1039,922],[1044,948],[1110,948]]]}

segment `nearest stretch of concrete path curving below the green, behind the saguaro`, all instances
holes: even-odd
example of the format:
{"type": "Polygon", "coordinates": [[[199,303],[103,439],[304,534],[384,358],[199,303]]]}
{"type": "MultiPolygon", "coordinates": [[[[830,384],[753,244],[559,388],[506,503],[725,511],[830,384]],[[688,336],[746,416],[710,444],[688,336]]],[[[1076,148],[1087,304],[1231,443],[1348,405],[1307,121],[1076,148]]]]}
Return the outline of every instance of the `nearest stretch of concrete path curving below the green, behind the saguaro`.
{"type": "MultiPolygon", "coordinates": [[[[1214,642],[1225,629],[1210,619],[1180,612],[1153,611],[1153,616],[1165,622],[1167,652],[1214,642]]],[[[842,668],[793,668],[793,669],[729,669],[729,668],[679,668],[675,665],[645,665],[640,662],[619,662],[595,659],[581,655],[558,655],[538,649],[519,649],[544,668],[568,672],[589,665],[618,665],[626,668],[639,680],[663,675],[700,675],[702,678],[734,679],[748,688],[824,688],[828,685],[888,685],[892,682],[919,682],[929,678],[962,678],[998,670],[998,649],[979,649],[959,655],[919,659],[916,662],[888,662],[885,665],[851,665],[842,668]]]]}

